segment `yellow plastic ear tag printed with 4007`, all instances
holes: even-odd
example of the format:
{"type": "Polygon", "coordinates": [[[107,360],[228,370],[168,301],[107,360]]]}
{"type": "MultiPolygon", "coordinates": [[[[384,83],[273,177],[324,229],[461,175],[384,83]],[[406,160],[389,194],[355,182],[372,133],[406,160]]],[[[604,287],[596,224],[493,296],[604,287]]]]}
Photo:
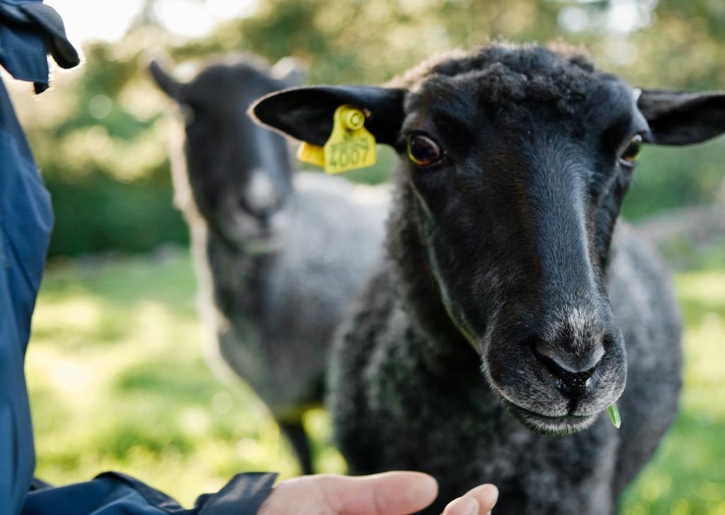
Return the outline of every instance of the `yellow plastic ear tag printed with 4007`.
{"type": "Polygon", "coordinates": [[[371,167],[376,162],[375,136],[365,129],[365,114],[345,104],[335,109],[332,132],[325,146],[302,143],[297,157],[324,167],[327,173],[371,167]]]}

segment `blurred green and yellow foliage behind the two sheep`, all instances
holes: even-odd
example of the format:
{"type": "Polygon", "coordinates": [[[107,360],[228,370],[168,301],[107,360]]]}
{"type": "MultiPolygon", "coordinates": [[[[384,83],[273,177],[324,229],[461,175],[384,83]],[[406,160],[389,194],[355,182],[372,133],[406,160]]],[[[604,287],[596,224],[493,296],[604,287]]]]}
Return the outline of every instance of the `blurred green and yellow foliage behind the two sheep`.
{"type": "MultiPolygon", "coordinates": [[[[382,83],[439,51],[491,38],[566,41],[633,85],[725,88],[725,4],[715,0],[265,0],[249,17],[191,41],[167,33],[154,0],[146,3],[122,41],[88,44],[83,67],[57,74],[54,90],[17,98],[56,199],[51,255],[186,242],[170,201],[169,101],[146,74],[149,56],[162,51],[197,64],[239,51],[270,62],[294,55],[309,64],[310,83],[382,83]],[[610,20],[623,6],[637,14],[631,26],[610,20]],[[572,18],[579,21],[567,24],[572,18]]],[[[724,158],[723,140],[648,149],[626,216],[723,196],[724,158]]],[[[384,159],[354,178],[383,180],[390,167],[384,159]]]]}

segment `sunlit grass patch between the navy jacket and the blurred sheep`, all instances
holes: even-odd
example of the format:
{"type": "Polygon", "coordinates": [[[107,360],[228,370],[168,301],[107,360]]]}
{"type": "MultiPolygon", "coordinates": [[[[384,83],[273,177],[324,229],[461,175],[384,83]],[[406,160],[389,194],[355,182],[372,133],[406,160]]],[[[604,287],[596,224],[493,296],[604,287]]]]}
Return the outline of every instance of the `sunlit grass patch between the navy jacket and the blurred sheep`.
{"type": "Polygon", "coordinates": [[[297,473],[265,406],[202,359],[185,254],[52,267],[28,348],[38,475],[116,469],[191,503],[236,472],[297,473]]]}

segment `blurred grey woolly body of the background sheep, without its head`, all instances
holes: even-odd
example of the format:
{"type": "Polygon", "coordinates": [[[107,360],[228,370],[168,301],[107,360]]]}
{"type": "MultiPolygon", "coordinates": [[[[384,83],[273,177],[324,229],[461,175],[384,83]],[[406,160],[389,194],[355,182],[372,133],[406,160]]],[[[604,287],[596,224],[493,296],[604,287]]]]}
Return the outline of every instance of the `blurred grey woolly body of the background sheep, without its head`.
{"type": "Polygon", "coordinates": [[[247,252],[196,220],[213,350],[281,422],[299,422],[321,402],[332,332],[382,254],[387,197],[381,187],[297,173],[278,233],[247,252]]]}

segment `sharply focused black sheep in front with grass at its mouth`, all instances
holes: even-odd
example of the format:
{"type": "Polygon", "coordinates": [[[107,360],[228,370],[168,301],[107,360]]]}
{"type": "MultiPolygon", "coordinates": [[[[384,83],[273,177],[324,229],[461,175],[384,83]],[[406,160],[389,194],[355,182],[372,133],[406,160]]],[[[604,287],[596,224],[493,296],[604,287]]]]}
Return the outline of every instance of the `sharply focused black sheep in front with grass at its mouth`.
{"type": "Polygon", "coordinates": [[[725,95],[639,91],[580,54],[496,44],[253,109],[320,144],[339,104],[401,157],[388,259],[332,364],[352,471],[433,474],[431,514],[481,482],[500,515],[616,511],[676,413],[682,352],[666,270],[614,227],[642,143],[724,132],[725,95]]]}

